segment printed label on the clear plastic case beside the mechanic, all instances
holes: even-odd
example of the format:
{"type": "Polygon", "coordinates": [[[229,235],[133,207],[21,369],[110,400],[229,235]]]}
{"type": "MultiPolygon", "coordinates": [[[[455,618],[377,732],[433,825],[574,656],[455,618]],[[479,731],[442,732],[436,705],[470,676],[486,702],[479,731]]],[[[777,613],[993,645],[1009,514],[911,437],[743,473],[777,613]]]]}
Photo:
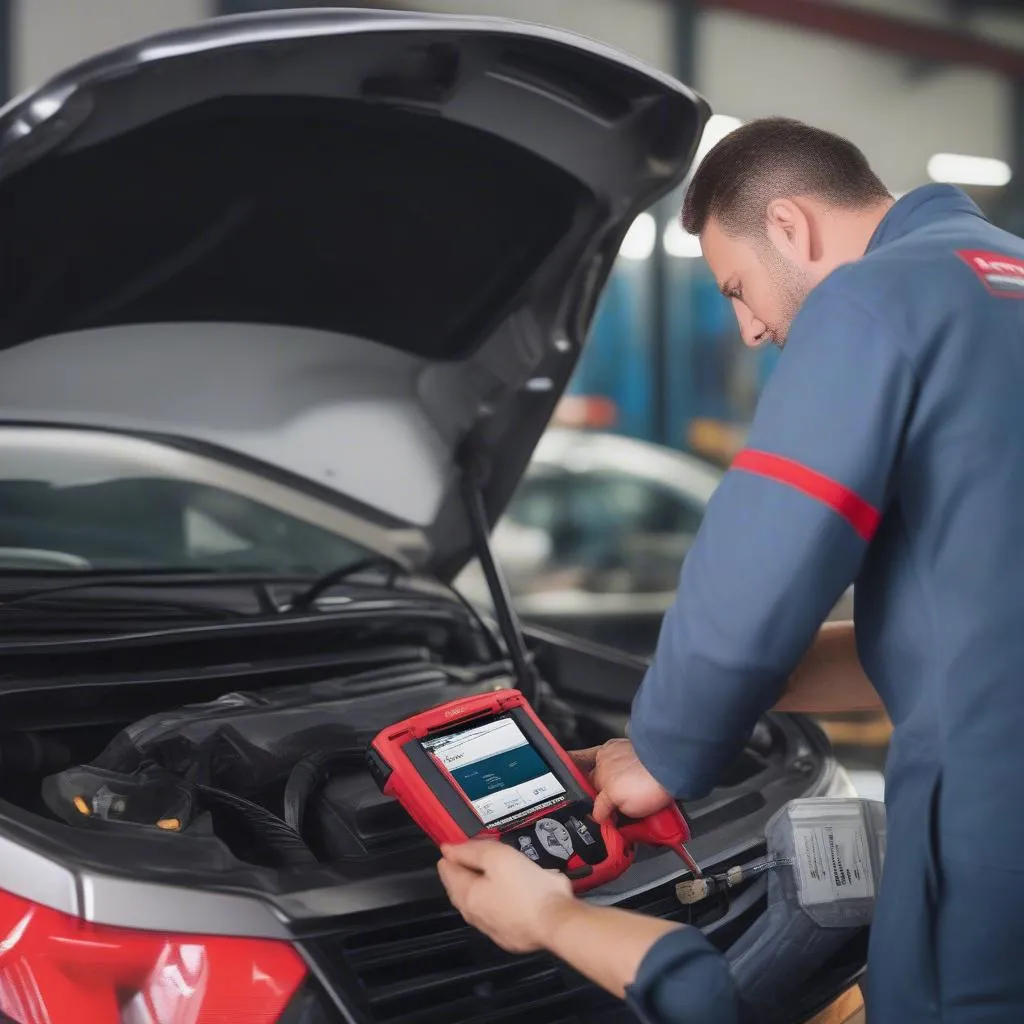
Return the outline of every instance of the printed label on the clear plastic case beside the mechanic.
{"type": "Polygon", "coordinates": [[[871,899],[874,876],[867,830],[858,814],[829,815],[794,821],[800,901],[805,906],[841,900],[871,899]]]}

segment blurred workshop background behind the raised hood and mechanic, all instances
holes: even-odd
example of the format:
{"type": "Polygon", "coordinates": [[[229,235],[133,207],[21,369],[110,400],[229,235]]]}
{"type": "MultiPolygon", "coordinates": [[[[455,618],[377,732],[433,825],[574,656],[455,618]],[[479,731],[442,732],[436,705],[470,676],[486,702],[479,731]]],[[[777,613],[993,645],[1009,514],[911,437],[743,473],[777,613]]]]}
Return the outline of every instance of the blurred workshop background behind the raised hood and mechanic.
{"type": "MultiPolygon", "coordinates": [[[[278,7],[260,0],[0,0],[0,89],[147,33],[278,7]]],[[[333,4],[332,6],[336,6],[333,4]]],[[[361,3],[556,25],[695,86],[703,148],[782,114],[835,130],[894,195],[963,185],[1024,233],[1024,0],[414,0],[361,3]]],[[[703,506],[777,357],[739,342],[680,196],[623,245],[555,429],[496,547],[520,612],[641,653],[653,646],[703,506]]],[[[339,244],[344,244],[339,240],[339,244]]],[[[471,567],[462,584],[483,600],[471,567]]],[[[849,614],[845,599],[837,616],[849,614]]],[[[826,723],[848,763],[881,766],[888,724],[826,723]]],[[[877,775],[858,776],[877,792],[877,775]]]]}

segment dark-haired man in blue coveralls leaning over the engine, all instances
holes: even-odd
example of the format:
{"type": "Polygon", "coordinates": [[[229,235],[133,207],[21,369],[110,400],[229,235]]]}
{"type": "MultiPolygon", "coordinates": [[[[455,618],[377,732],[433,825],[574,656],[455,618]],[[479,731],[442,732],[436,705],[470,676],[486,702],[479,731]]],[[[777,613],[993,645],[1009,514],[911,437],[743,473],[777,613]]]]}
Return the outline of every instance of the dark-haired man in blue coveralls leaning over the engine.
{"type": "MultiPolygon", "coordinates": [[[[848,683],[864,707],[870,679],[894,733],[868,1019],[1024,1021],[1024,242],[950,185],[894,203],[854,145],[784,119],[719,142],[682,219],[745,343],[784,350],[630,740],[594,753],[601,810],[700,797],[763,712],[837,710],[848,683]],[[854,581],[855,638],[818,632],[854,581]]],[[[449,856],[457,905],[499,941],[551,898],[526,868],[488,887],[497,852],[449,856]]],[[[720,978],[692,933],[629,957],[604,936],[602,965],[589,932],[580,948],[557,926],[534,937],[631,986],[648,1020],[734,1019],[730,996],[718,1016],[687,1009],[720,978]]]]}

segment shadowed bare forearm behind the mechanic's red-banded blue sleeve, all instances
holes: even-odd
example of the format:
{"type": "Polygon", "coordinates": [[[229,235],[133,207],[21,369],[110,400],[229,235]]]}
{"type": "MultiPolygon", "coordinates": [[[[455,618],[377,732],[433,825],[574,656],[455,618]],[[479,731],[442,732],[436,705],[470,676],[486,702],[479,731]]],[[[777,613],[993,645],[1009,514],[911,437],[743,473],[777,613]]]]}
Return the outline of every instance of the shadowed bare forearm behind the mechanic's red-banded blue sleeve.
{"type": "Polygon", "coordinates": [[[821,627],[775,710],[810,715],[884,710],[857,656],[853,623],[821,627]]]}

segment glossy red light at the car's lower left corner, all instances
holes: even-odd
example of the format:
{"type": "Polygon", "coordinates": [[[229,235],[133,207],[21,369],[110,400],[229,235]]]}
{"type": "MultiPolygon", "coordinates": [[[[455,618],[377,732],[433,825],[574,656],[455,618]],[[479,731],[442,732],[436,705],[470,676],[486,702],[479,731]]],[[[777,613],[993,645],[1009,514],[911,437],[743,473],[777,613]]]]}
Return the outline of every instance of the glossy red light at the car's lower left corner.
{"type": "Polygon", "coordinates": [[[92,925],[0,892],[0,1014],[17,1024],[274,1024],[287,942],[92,925]]]}

